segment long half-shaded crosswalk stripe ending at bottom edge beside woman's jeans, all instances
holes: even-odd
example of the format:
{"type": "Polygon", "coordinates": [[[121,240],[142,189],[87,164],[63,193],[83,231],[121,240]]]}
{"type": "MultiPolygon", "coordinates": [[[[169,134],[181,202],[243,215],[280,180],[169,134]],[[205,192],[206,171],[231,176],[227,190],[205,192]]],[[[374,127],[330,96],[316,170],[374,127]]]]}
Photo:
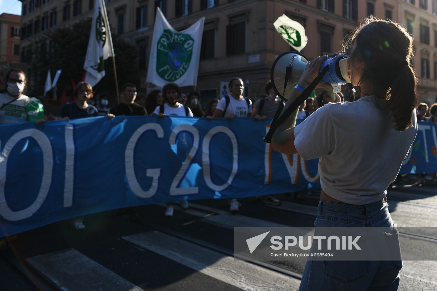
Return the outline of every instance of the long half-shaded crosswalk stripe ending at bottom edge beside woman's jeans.
{"type": "Polygon", "coordinates": [[[300,280],[234,260],[162,232],[144,232],[123,239],[243,290],[297,290],[300,280]]]}

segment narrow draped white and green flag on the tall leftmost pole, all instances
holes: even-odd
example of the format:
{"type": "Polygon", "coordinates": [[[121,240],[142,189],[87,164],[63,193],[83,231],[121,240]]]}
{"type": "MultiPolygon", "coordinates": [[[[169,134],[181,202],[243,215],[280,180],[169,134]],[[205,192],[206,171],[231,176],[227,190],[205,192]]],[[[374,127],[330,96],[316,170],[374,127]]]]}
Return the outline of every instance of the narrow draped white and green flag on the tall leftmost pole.
{"type": "Polygon", "coordinates": [[[105,76],[104,60],[113,56],[114,47],[105,3],[104,0],[96,0],[87,55],[83,63],[83,69],[87,71],[85,82],[94,87],[105,76]]]}

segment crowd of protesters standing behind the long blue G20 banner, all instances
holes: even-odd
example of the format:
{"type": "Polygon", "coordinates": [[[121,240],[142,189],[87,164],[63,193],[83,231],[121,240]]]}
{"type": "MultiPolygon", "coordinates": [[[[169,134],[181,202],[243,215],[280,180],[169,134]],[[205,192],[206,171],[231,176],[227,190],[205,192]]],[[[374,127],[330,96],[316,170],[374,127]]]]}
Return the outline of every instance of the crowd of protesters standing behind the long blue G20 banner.
{"type": "MultiPolygon", "coordinates": [[[[274,118],[279,104],[283,102],[274,90],[273,84],[269,81],[265,86],[265,96],[257,100],[254,104],[249,98],[243,96],[244,82],[241,78],[232,78],[229,82],[229,95],[218,98],[208,98],[206,107],[202,107],[201,95],[197,91],[183,92],[175,83],[166,84],[162,90],[151,90],[147,95],[137,93],[136,85],[126,83],[121,89],[119,103],[109,107],[109,96],[106,94],[97,94],[94,97],[93,88],[86,82],[80,82],[73,90],[73,102],[63,104],[59,111],[53,111],[50,107],[52,103],[43,106],[36,98],[30,98],[23,94],[26,76],[23,71],[12,69],[6,76],[7,92],[0,93],[0,124],[20,121],[35,121],[36,125],[44,121],[51,120],[72,120],[76,118],[86,118],[93,116],[107,116],[111,119],[114,116],[132,116],[132,115],[157,115],[160,118],[166,116],[186,116],[198,117],[212,120],[215,118],[254,118],[255,120],[267,120],[274,118]],[[12,106],[12,107],[11,107],[12,106]],[[10,108],[9,108],[10,107],[10,108]],[[45,114],[44,108],[48,110],[45,114]],[[18,117],[8,114],[8,110],[19,108],[22,113],[18,117]]],[[[342,90],[343,94],[338,95],[342,101],[346,99],[354,101],[360,98],[359,94],[353,90],[348,92],[342,90]]],[[[305,119],[320,106],[323,106],[324,100],[328,99],[326,91],[322,91],[316,98],[309,97],[298,109],[298,119],[305,119]]],[[[56,89],[50,90],[46,98],[56,100],[56,89]]],[[[426,103],[420,103],[417,106],[417,119],[430,121],[437,124],[437,103],[432,104],[430,108],[426,103]]],[[[185,139],[182,136],[182,139],[185,139]]],[[[182,153],[183,154],[183,153],[182,153]]],[[[436,175],[422,175],[425,180],[436,179],[436,175]]],[[[264,204],[279,205],[279,201],[274,195],[265,195],[262,197],[264,204]]],[[[295,201],[302,203],[304,200],[295,193],[295,201]]],[[[180,201],[182,209],[188,208],[187,201],[180,201]]],[[[165,215],[173,216],[173,206],[175,203],[166,204],[165,215]]],[[[241,203],[236,198],[229,200],[229,211],[236,213],[239,211],[241,203]]],[[[119,214],[128,213],[129,218],[139,221],[140,216],[135,207],[129,207],[119,210],[119,214]]],[[[83,217],[70,220],[74,229],[84,229],[83,217]]]]}

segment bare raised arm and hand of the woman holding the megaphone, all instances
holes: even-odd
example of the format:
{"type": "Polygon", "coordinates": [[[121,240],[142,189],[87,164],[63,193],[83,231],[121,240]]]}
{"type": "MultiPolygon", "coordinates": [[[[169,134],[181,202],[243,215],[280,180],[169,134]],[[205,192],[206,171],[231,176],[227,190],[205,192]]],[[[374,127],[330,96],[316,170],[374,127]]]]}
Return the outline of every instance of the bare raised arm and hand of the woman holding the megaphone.
{"type": "MultiPolygon", "coordinates": [[[[305,70],[302,73],[302,76],[300,80],[298,81],[298,84],[303,87],[308,87],[308,85],[317,77],[319,74],[320,66],[322,65],[322,62],[326,59],[327,55],[322,55],[317,57],[316,59],[313,59],[311,62],[309,62],[305,70]]],[[[284,111],[290,106],[291,103],[300,95],[302,94],[301,91],[294,89],[291,92],[290,97],[287,100],[287,104],[285,104],[284,109],[282,110],[281,114],[284,113],[284,111]]],[[[296,126],[296,119],[298,115],[297,108],[290,116],[288,116],[285,121],[279,125],[279,127],[276,129],[276,131],[273,134],[271,144],[272,148],[278,152],[285,153],[285,154],[295,154],[297,153],[297,150],[295,148],[295,126],[296,126]]]]}

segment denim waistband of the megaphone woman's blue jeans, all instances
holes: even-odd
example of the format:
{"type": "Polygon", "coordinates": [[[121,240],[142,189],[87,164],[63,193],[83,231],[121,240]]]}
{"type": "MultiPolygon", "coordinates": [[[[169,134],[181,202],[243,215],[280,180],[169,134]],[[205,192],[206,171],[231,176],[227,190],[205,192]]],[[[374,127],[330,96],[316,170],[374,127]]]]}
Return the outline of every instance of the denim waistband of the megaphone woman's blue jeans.
{"type": "Polygon", "coordinates": [[[387,206],[387,197],[382,198],[382,200],[364,204],[364,205],[354,205],[345,204],[331,201],[319,200],[319,211],[333,211],[339,213],[351,213],[351,214],[366,214],[373,211],[381,211],[387,206]]]}

